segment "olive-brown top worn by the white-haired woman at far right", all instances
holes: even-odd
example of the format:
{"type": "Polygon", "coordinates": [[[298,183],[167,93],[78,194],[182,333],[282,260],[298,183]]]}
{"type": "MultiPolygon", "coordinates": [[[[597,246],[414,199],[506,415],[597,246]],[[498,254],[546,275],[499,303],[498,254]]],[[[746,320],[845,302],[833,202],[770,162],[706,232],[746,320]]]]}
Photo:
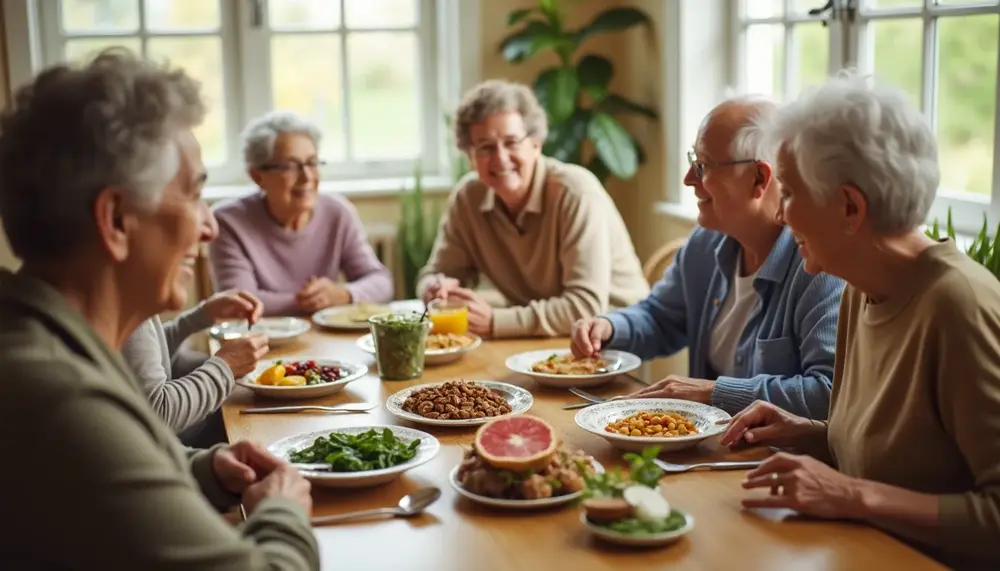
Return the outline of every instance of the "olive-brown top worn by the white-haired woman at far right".
{"type": "Polygon", "coordinates": [[[830,451],[847,475],[940,496],[936,529],[889,531],[1000,569],[1000,282],[951,241],[902,281],[877,305],[844,291],[830,451]]]}

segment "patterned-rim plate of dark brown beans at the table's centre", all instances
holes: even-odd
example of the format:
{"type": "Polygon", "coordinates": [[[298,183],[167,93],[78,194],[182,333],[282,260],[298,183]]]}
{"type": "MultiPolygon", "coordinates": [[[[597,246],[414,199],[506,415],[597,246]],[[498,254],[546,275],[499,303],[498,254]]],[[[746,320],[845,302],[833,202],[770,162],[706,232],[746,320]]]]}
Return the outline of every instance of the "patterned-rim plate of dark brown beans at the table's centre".
{"type": "Polygon", "coordinates": [[[385,408],[417,424],[477,426],[527,412],[534,401],[530,392],[509,383],[455,380],[403,389],[386,400],[385,408]]]}

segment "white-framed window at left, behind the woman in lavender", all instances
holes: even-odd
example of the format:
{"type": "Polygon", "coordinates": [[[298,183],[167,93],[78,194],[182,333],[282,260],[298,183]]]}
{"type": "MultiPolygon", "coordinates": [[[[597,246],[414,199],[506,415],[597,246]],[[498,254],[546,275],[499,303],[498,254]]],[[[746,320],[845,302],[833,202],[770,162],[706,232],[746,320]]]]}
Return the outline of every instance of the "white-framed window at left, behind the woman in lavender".
{"type": "Polygon", "coordinates": [[[444,106],[458,96],[445,76],[460,70],[439,57],[442,4],[458,9],[454,0],[28,0],[34,37],[13,41],[36,44],[33,72],[115,45],[185,68],[209,104],[197,134],[214,184],[248,183],[240,132],[272,109],[319,125],[324,180],[404,177],[418,163],[444,175],[444,106]]]}

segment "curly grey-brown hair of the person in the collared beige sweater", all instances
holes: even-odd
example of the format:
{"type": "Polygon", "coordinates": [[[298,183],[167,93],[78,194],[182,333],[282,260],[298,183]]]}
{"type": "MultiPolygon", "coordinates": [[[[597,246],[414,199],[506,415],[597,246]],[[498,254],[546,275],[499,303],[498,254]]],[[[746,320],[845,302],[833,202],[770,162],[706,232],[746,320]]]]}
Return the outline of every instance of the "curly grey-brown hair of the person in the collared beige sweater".
{"type": "Polygon", "coordinates": [[[549,136],[549,118],[527,85],[493,79],[473,87],[458,104],[455,112],[455,143],[461,151],[472,147],[469,130],[495,113],[515,112],[524,120],[528,136],[545,142],[549,136]]]}

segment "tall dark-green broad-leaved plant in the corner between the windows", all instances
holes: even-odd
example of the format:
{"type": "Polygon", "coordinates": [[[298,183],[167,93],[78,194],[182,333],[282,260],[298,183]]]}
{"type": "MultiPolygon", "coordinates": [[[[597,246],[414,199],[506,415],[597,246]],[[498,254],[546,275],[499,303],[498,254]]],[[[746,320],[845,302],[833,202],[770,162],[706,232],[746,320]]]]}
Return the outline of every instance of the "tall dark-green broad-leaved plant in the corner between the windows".
{"type": "Polygon", "coordinates": [[[519,28],[500,43],[500,53],[515,64],[546,50],[558,57],[558,65],[542,71],[533,86],[549,117],[546,155],[583,164],[602,182],[609,175],[630,179],[644,156],[617,116],[656,120],[657,113],[611,92],[614,65],[609,59],[593,53],[577,58],[575,53],[591,36],[649,24],[649,17],[636,8],[611,8],[580,29],[569,29],[564,21],[559,0],[539,0],[536,8],[514,10],[507,25],[519,28]],[[592,152],[585,148],[587,141],[592,152]]]}

